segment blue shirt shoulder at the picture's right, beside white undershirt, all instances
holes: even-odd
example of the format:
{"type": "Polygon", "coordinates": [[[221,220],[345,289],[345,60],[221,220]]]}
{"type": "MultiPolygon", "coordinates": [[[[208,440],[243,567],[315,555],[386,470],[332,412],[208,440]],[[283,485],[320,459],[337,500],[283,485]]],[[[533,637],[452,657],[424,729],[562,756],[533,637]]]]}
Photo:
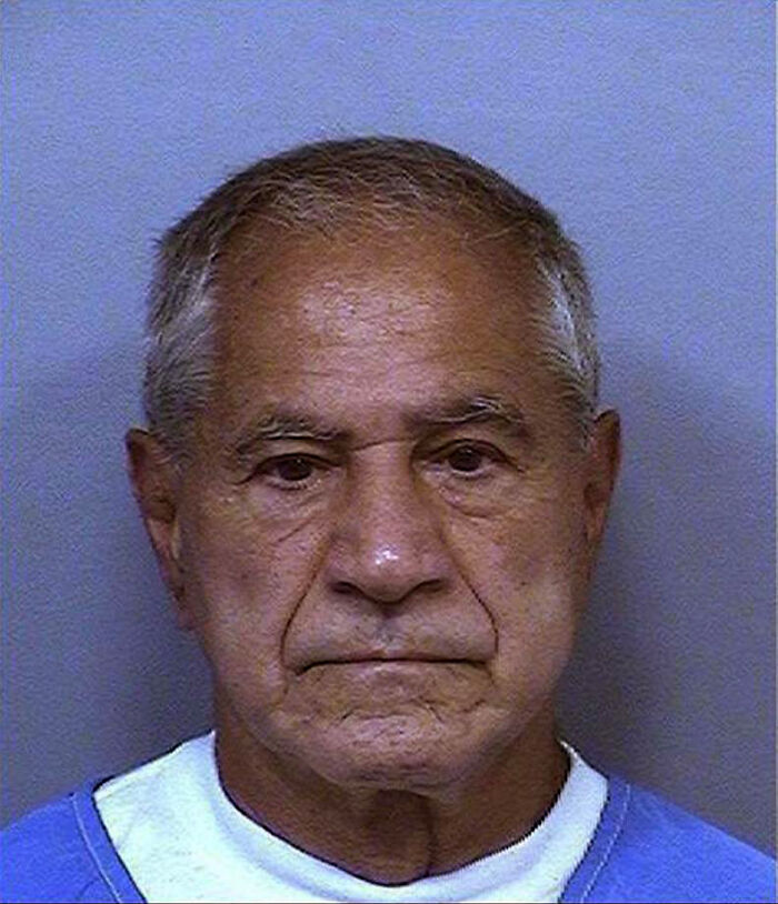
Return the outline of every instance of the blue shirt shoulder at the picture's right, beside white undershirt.
{"type": "Polygon", "coordinates": [[[766,854],[618,779],[581,867],[567,901],[769,902],[776,894],[766,854]]]}

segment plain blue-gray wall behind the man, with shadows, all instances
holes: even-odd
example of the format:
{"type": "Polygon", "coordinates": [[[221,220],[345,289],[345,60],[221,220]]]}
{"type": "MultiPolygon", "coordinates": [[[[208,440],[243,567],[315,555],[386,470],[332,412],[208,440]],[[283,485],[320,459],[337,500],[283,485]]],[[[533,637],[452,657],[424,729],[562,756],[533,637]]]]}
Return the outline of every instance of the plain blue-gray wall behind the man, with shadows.
{"type": "Polygon", "coordinates": [[[590,760],[772,845],[772,3],[2,6],[6,820],[208,724],[127,488],[152,240],[303,140],[420,135],[584,245],[626,460],[563,693],[590,760]]]}

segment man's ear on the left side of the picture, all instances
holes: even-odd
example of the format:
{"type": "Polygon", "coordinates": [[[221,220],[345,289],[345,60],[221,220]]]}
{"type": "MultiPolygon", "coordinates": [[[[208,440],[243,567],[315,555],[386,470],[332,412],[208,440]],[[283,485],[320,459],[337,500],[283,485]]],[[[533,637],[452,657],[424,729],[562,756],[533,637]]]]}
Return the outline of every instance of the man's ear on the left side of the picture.
{"type": "Polygon", "coordinates": [[[179,627],[192,627],[184,605],[178,492],[180,478],[169,455],[146,430],[132,429],[124,438],[132,493],[151,540],[162,577],[176,603],[179,627]]]}

